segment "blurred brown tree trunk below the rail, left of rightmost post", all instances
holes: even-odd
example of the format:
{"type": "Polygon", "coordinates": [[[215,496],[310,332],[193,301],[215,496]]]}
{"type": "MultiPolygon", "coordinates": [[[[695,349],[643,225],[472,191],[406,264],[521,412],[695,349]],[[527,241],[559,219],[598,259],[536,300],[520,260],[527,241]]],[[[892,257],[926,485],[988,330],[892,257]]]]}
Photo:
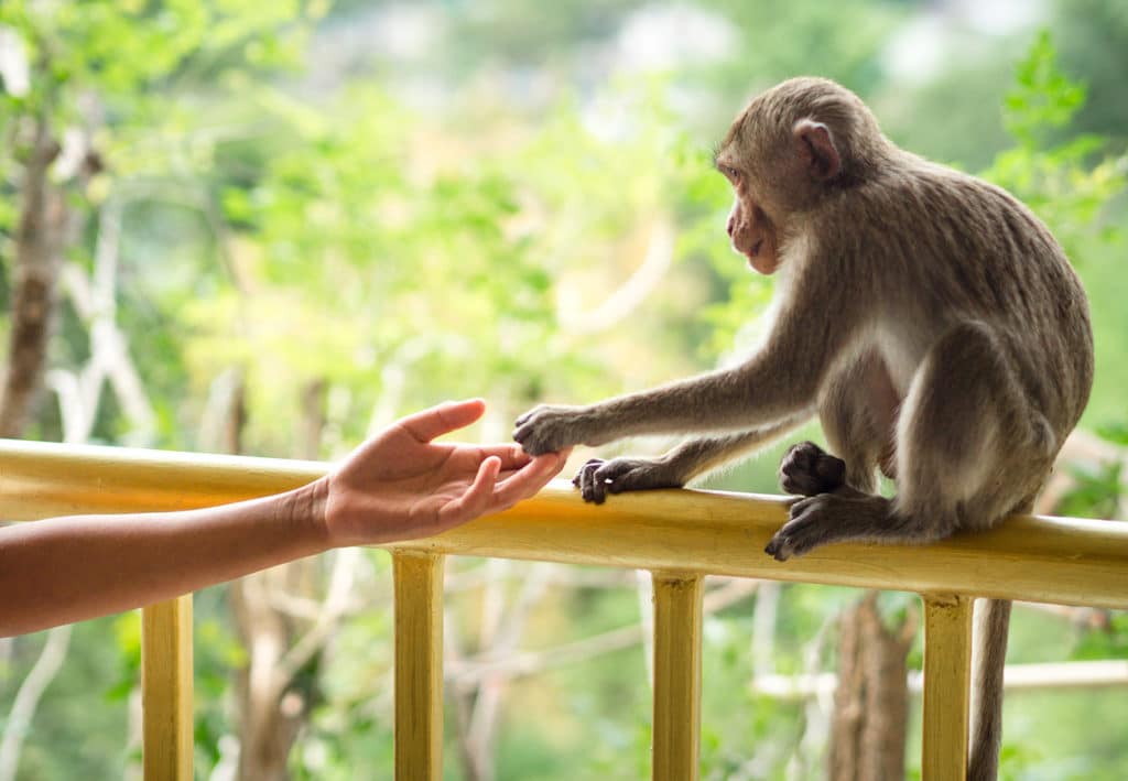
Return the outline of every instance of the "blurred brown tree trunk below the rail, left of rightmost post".
{"type": "Polygon", "coordinates": [[[831,781],[905,778],[908,685],[905,655],[916,632],[907,620],[892,630],[870,591],[841,618],[838,690],[830,728],[831,781]]]}

